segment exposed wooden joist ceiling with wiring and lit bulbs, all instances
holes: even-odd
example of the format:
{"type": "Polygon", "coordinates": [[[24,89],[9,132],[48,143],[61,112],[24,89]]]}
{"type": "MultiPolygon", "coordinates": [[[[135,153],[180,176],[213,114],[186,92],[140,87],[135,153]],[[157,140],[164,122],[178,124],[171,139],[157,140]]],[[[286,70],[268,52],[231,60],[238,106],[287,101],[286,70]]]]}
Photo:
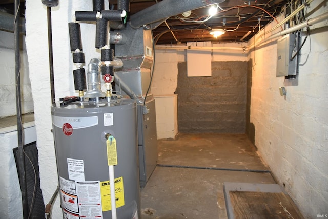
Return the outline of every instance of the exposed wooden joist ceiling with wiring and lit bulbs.
{"type": "MultiPolygon", "coordinates": [[[[129,16],[161,1],[166,0],[131,0],[129,16]]],[[[0,0],[0,11],[13,14],[13,2],[13,0],[0,0]]],[[[21,14],[24,16],[25,1],[22,3],[20,8],[21,14]]],[[[116,0],[109,1],[109,3],[116,8],[116,0]]],[[[276,23],[274,17],[281,13],[286,3],[288,0],[226,0],[218,4],[217,13],[209,19],[210,6],[206,6],[191,11],[188,17],[182,14],[169,17],[166,22],[153,30],[153,35],[156,37],[157,45],[175,45],[197,41],[245,42],[268,23],[276,23]],[[223,29],[226,33],[215,38],[210,34],[212,29],[223,29]]]]}

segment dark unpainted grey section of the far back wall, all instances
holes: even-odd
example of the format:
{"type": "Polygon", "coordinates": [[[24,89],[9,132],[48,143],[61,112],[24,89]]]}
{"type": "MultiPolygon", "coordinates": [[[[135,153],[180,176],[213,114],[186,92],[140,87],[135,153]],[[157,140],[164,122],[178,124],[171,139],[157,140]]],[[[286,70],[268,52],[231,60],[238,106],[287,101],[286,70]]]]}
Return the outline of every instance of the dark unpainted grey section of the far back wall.
{"type": "Polygon", "coordinates": [[[185,133],[245,133],[247,62],[212,62],[211,77],[178,64],[178,126],[185,133]]]}

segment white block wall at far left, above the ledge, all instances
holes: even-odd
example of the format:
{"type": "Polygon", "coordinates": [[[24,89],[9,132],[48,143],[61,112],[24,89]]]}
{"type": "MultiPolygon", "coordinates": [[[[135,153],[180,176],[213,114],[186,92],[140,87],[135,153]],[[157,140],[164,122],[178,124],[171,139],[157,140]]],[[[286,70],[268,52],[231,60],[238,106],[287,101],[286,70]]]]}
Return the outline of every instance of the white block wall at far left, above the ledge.
{"type": "MultiPolygon", "coordinates": [[[[33,112],[33,99],[29,78],[28,59],[25,47],[25,36],[22,36],[20,50],[20,83],[22,92],[22,113],[33,112]]],[[[0,31],[0,118],[16,115],[16,75],[14,34],[0,31]]]]}

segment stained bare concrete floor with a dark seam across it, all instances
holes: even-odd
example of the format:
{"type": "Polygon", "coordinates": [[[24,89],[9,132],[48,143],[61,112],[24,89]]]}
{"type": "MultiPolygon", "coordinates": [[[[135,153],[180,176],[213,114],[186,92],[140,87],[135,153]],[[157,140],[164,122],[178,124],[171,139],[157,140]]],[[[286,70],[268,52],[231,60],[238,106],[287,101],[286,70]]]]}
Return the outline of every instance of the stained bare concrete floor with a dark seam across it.
{"type": "Polygon", "coordinates": [[[142,219],[227,218],[224,182],[275,183],[244,134],[159,140],[158,165],[141,189],[142,219]]]}

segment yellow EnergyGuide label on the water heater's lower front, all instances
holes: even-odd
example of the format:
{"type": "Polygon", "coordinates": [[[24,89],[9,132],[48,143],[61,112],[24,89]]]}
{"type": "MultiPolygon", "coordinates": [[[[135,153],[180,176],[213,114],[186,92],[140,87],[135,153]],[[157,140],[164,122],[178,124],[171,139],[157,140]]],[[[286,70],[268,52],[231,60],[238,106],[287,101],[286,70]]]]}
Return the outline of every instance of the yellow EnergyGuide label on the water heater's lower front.
{"type": "MultiPolygon", "coordinates": [[[[124,206],[124,188],[123,188],[123,177],[115,178],[115,200],[116,208],[124,206]]],[[[101,190],[101,203],[103,204],[103,211],[110,211],[111,205],[111,189],[109,181],[100,182],[101,190]]]]}

